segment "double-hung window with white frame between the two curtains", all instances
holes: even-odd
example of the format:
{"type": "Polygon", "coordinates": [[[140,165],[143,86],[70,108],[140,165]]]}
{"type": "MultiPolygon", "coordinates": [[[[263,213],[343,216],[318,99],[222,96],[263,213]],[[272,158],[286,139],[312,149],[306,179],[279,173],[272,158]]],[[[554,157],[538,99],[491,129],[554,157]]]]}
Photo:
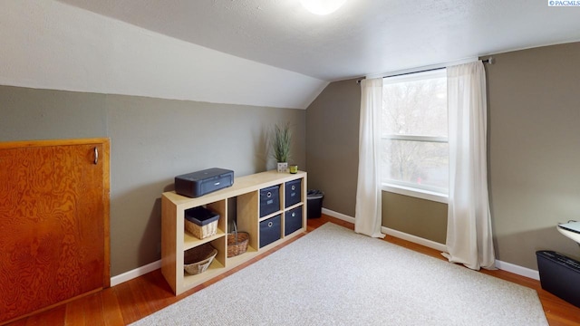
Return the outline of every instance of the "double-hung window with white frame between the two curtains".
{"type": "Polygon", "coordinates": [[[446,70],[385,78],[381,123],[382,182],[447,194],[446,70]]]}

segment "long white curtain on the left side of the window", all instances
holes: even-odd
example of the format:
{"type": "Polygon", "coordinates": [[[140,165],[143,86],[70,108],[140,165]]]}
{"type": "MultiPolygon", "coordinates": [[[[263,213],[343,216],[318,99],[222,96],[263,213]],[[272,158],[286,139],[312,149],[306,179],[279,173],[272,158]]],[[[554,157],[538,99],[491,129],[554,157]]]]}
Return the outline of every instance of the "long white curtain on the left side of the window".
{"type": "Polygon", "coordinates": [[[362,80],[354,231],[372,237],[384,236],[381,234],[381,110],[382,78],[362,80]]]}

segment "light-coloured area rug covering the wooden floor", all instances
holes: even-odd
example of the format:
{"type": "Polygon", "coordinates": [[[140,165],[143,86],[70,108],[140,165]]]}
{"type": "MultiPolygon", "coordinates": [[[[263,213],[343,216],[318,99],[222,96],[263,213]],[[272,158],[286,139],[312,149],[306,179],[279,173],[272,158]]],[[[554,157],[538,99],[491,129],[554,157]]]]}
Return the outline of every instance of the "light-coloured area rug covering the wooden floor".
{"type": "Polygon", "coordinates": [[[547,325],[535,290],[326,223],[133,325],[547,325]]]}

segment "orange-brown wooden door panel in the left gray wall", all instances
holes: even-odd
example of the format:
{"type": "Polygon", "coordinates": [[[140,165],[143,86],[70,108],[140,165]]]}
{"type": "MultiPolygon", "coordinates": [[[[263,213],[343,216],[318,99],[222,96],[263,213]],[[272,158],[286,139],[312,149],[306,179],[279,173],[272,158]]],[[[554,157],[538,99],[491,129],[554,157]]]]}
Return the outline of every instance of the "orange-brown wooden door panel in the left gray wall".
{"type": "Polygon", "coordinates": [[[108,165],[95,147],[0,149],[0,322],[106,285],[108,165]]]}

